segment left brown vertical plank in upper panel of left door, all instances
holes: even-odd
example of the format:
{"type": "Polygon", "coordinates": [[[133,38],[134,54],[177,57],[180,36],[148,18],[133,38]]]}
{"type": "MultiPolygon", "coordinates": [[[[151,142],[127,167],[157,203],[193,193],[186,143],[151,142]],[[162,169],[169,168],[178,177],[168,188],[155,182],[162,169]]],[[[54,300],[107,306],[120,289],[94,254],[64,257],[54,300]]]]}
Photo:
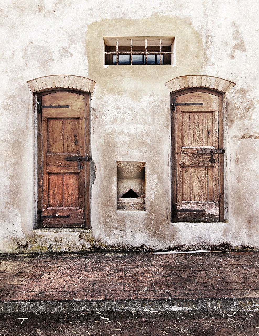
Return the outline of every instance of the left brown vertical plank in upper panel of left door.
{"type": "Polygon", "coordinates": [[[62,119],[48,119],[48,153],[63,153],[62,119]]]}

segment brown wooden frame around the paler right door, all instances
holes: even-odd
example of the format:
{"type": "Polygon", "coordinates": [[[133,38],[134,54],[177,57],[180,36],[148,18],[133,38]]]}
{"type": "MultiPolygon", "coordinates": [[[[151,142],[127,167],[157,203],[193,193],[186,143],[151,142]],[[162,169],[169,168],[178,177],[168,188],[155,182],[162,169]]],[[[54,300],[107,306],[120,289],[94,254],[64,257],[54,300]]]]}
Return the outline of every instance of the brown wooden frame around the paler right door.
{"type": "MultiPolygon", "coordinates": [[[[223,94],[207,88],[189,88],[178,90],[171,93],[171,222],[177,222],[176,216],[173,213],[173,204],[176,204],[176,109],[173,110],[173,99],[177,96],[192,93],[204,92],[210,93],[219,98],[219,148],[224,148],[224,124],[223,124],[223,94]]],[[[219,222],[224,222],[224,155],[219,155],[219,222]]]]}

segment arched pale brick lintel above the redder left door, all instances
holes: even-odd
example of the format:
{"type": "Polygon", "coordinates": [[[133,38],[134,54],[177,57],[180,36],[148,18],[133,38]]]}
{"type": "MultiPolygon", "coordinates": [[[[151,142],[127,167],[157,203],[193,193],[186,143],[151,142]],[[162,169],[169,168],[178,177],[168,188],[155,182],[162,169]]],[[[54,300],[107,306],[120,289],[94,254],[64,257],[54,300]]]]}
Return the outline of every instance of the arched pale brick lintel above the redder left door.
{"type": "Polygon", "coordinates": [[[27,82],[33,93],[53,89],[74,89],[93,92],[96,82],[81,76],[52,75],[32,79],[27,82]]]}

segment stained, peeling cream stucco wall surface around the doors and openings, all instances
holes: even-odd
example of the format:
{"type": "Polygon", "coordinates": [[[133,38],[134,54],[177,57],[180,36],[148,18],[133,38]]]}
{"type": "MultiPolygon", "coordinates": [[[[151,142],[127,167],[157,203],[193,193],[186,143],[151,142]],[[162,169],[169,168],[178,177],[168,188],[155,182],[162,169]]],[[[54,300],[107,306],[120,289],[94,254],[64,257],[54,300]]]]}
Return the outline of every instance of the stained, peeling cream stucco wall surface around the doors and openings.
{"type": "Polygon", "coordinates": [[[259,26],[256,1],[5,0],[1,6],[0,250],[259,248],[259,26]],[[103,66],[104,36],[175,36],[176,65],[103,66]],[[88,77],[92,230],[33,230],[33,95],[27,81],[88,77]],[[170,95],[177,76],[237,83],[227,94],[228,223],[170,222],[170,95]],[[146,162],[146,211],[116,211],[116,161],[146,162]]]}

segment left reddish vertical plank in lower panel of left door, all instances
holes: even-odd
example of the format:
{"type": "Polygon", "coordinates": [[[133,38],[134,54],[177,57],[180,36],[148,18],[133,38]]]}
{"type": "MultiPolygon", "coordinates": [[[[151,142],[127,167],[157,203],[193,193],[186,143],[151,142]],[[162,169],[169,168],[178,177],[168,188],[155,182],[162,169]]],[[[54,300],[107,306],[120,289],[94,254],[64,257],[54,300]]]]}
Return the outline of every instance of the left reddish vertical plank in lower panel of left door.
{"type": "Polygon", "coordinates": [[[48,207],[63,207],[63,174],[48,174],[48,207]]]}

